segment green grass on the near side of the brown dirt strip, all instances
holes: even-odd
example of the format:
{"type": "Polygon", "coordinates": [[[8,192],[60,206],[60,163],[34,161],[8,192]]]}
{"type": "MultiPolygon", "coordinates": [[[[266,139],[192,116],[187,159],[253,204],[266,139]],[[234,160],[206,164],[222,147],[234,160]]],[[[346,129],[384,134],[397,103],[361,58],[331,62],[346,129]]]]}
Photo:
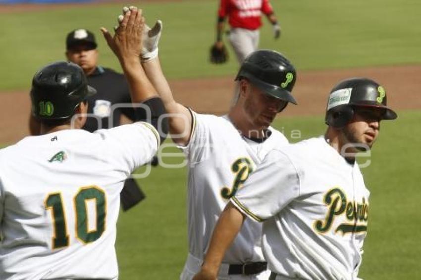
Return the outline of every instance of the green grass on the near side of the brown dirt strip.
{"type": "MultiPolygon", "coordinates": [[[[421,112],[405,112],[395,122],[384,121],[362,169],[371,191],[368,237],[360,277],[368,280],[420,279],[421,233],[418,190],[421,112]]],[[[324,133],[323,118],[280,118],[275,127],[302,139],[324,133]],[[297,135],[294,133],[293,135],[297,135]]],[[[300,139],[291,139],[296,142],[300,139]]],[[[366,159],[364,159],[365,161],[366,159]]],[[[163,157],[165,163],[181,158],[163,157]]],[[[139,183],[148,198],[122,212],[117,230],[117,254],[122,280],[177,279],[187,255],[186,169],[153,169],[139,183]]]]}

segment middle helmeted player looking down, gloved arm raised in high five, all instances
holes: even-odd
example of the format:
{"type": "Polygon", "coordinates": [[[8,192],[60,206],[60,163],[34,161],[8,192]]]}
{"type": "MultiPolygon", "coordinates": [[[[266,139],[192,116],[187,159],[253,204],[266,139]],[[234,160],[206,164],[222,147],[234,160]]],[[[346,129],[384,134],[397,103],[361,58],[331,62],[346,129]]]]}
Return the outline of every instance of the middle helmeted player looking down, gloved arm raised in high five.
{"type": "MultiPolygon", "coordinates": [[[[270,124],[289,102],[296,103],[291,94],[296,72],[282,54],[255,51],[244,60],[235,78],[236,98],[229,113],[220,117],[199,114],[177,103],[171,94],[159,65],[160,28],[159,24],[157,35],[148,44],[155,46],[150,48],[155,56],[143,59],[143,68],[164,102],[172,140],[188,159],[189,253],[180,279],[190,280],[200,270],[212,229],[229,198],[267,151],[288,143],[270,124]]],[[[245,222],[224,256],[219,279],[269,277],[261,233],[261,225],[245,222]]]]}

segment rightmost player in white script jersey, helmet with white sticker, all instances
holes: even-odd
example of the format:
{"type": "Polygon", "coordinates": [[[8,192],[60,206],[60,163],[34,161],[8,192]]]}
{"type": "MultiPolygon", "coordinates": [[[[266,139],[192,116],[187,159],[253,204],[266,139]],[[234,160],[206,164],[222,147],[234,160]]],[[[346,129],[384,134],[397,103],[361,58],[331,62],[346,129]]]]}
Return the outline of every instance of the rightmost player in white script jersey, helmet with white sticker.
{"type": "Polygon", "coordinates": [[[231,197],[194,279],[216,279],[225,250],[248,220],[263,222],[270,280],[357,279],[369,191],[355,156],[371,148],[381,120],[396,118],[376,82],[353,78],[336,85],[326,134],[267,153],[231,197]]]}

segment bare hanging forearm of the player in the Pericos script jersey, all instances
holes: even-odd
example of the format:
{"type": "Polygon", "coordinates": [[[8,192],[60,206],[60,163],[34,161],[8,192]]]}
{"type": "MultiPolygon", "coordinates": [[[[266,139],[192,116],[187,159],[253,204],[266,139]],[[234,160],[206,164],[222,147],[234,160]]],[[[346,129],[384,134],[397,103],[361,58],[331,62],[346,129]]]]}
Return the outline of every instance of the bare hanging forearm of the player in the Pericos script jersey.
{"type": "Polygon", "coordinates": [[[230,202],[219,216],[202,270],[217,275],[226,250],[241,230],[245,216],[230,202]]]}

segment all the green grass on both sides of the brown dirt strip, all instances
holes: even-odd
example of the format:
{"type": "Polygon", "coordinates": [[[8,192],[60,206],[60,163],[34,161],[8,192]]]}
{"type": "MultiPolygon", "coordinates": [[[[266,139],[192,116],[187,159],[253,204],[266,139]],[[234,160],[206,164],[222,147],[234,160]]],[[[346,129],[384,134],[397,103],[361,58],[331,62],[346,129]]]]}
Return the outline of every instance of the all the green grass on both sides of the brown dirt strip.
{"type": "MultiPolygon", "coordinates": [[[[264,20],[261,47],[285,53],[298,70],[413,64],[421,62],[419,0],[272,0],[283,33],[271,37],[264,20]]],[[[136,4],[136,3],[134,3],[136,4]]],[[[137,3],[139,4],[139,3],[137,3]]],[[[148,22],[162,19],[160,57],[168,78],[233,75],[237,63],[209,64],[216,0],[146,3],[148,22]]],[[[112,29],[121,4],[0,14],[0,91],[23,90],[47,62],[64,59],[68,31],[95,31],[101,63],[119,69],[105,46],[101,26],[112,29]]],[[[397,76],[397,79],[399,77],[397,76]]],[[[360,277],[368,280],[421,279],[421,112],[399,112],[384,122],[363,169],[371,190],[368,237],[360,277]]],[[[275,127],[301,139],[324,133],[322,116],[281,118],[275,127]]],[[[297,141],[299,139],[291,139],[297,141]]],[[[181,158],[163,157],[164,162],[181,158]]],[[[154,168],[139,180],[147,199],[118,222],[117,254],[121,280],[178,279],[187,255],[186,169],[154,168]]]]}

